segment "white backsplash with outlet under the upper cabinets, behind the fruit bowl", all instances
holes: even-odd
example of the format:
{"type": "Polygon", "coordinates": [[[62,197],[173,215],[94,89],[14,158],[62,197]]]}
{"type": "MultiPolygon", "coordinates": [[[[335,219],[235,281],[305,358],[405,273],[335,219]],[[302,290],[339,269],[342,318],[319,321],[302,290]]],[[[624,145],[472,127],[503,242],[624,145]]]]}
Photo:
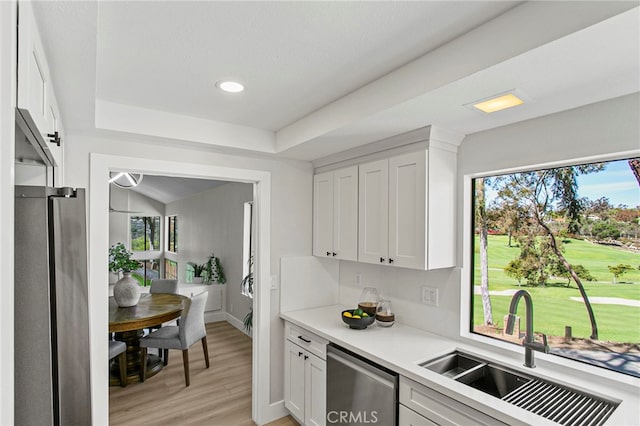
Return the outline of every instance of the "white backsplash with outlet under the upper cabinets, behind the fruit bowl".
{"type": "Polygon", "coordinates": [[[460,268],[418,271],[340,261],[339,282],[341,305],[355,308],[362,289],[375,287],[381,299],[391,300],[396,321],[449,338],[460,335],[460,268]],[[421,303],[423,286],[438,289],[438,306],[421,303]]]}

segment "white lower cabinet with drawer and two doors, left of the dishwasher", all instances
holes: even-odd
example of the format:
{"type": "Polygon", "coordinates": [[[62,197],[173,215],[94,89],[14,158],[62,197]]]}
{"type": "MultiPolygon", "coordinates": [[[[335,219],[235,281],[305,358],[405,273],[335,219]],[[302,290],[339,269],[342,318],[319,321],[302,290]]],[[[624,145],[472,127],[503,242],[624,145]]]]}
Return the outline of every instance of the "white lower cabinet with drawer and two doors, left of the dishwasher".
{"type": "Polygon", "coordinates": [[[324,426],[327,362],[321,356],[326,357],[326,342],[288,324],[285,335],[284,405],[303,425],[324,426]]]}

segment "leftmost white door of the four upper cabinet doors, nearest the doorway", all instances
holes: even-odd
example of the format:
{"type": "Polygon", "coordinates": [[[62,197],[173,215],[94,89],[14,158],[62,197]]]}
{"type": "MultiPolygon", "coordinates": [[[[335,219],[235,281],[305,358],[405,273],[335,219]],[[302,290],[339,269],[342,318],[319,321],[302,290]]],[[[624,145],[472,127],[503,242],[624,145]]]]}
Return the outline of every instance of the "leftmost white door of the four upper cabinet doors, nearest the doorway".
{"type": "Polygon", "coordinates": [[[333,257],[333,172],[313,177],[313,254],[333,257]]]}

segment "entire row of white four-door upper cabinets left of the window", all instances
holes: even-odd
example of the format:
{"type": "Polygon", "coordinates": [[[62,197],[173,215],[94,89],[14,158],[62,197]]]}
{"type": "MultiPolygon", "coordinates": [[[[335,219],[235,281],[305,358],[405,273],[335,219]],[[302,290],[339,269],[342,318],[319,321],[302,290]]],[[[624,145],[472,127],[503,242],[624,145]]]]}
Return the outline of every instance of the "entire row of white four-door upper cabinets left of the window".
{"type": "Polygon", "coordinates": [[[351,167],[315,175],[313,254],[411,269],[455,266],[462,138],[428,126],[390,138],[391,148],[378,143],[366,155],[336,160],[351,167]]]}

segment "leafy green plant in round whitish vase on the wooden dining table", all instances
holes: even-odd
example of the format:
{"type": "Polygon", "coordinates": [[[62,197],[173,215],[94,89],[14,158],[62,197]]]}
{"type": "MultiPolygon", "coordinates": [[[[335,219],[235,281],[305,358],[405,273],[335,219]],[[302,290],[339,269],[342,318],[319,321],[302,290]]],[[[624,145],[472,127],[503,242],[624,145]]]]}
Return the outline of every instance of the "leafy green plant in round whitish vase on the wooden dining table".
{"type": "Polygon", "coordinates": [[[127,308],[135,306],[140,300],[140,285],[138,280],[131,276],[131,271],[140,267],[137,260],[131,259],[131,253],[122,243],[117,243],[109,248],[109,270],[122,272],[122,278],[113,286],[113,298],[118,306],[127,308]]]}

